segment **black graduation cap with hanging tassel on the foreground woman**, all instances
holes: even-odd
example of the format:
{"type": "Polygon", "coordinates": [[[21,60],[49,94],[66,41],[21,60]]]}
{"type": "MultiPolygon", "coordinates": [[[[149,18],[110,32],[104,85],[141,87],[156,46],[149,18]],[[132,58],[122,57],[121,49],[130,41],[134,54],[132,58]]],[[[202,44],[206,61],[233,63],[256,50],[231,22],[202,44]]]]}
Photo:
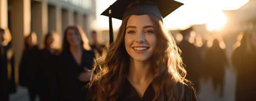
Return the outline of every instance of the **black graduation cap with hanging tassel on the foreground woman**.
{"type": "Polygon", "coordinates": [[[129,15],[152,14],[157,16],[162,22],[183,3],[174,0],[116,0],[101,15],[109,16],[110,44],[113,42],[112,18],[123,20],[129,15]]]}

